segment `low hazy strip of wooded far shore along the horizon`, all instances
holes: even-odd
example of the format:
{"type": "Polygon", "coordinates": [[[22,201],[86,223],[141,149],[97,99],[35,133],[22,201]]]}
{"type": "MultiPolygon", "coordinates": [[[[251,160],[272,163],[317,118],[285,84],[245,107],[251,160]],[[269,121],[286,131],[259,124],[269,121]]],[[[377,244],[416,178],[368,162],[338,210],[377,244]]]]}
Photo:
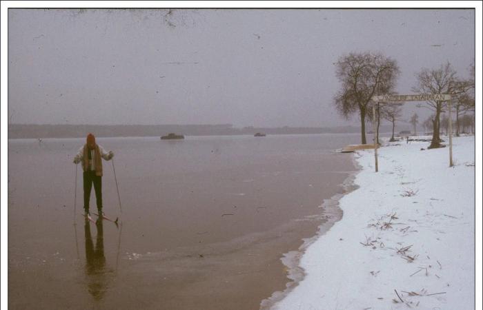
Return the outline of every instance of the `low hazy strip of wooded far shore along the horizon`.
{"type": "MultiPolygon", "coordinates": [[[[387,127],[387,128],[386,128],[387,127]]],[[[391,132],[381,125],[380,132],[391,132]]],[[[405,128],[402,128],[405,129],[405,128]]],[[[83,138],[88,132],[99,137],[163,136],[170,132],[185,136],[239,136],[261,132],[276,134],[357,134],[360,127],[233,127],[220,125],[36,125],[9,124],[8,139],[17,138],[83,138]]]]}

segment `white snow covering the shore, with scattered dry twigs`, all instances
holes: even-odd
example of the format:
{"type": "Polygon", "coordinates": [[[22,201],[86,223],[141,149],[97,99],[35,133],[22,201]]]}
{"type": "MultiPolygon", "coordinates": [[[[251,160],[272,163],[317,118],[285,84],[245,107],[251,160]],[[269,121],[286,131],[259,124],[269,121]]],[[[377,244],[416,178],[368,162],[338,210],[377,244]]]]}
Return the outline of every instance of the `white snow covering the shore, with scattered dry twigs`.
{"type": "Polygon", "coordinates": [[[381,147],[378,173],[373,150],[355,154],[359,188],[273,309],[474,309],[475,137],[453,138],[455,167],[428,145],[381,147]]]}

